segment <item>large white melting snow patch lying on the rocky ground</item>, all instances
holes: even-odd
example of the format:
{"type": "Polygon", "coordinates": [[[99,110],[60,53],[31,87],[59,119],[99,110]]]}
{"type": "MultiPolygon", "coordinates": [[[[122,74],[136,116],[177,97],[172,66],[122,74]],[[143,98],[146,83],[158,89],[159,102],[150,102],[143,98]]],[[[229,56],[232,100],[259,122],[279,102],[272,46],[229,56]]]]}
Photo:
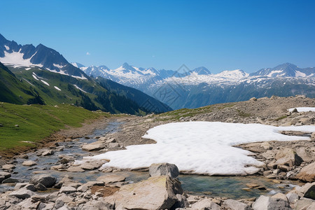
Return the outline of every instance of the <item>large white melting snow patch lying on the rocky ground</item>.
{"type": "Polygon", "coordinates": [[[169,162],[180,171],[196,174],[253,174],[262,162],[249,157],[249,151],[232,147],[256,141],[309,140],[280,134],[280,131],[315,132],[315,126],[274,127],[260,124],[188,122],[169,123],[148,130],[144,138],[157,144],[127,146],[124,151],[110,151],[89,159],[109,159],[104,167],[135,169],[152,163],[169,162]]]}

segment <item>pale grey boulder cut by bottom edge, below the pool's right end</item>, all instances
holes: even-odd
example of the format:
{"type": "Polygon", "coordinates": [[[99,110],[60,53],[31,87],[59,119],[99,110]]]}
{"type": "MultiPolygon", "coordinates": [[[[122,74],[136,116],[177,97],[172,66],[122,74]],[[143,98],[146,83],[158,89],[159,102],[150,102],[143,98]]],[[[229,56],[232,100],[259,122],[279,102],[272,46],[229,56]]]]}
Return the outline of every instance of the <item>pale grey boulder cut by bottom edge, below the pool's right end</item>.
{"type": "Polygon", "coordinates": [[[282,199],[260,195],[252,205],[254,210],[290,210],[290,204],[282,199]]]}

